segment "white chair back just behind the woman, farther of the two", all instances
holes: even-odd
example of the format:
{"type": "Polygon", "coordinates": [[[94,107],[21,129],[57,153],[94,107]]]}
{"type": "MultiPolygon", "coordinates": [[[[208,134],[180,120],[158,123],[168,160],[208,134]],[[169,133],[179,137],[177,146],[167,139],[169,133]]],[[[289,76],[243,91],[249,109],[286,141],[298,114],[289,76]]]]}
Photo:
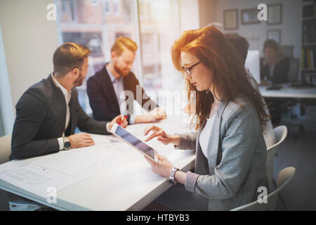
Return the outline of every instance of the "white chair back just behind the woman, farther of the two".
{"type": "Polygon", "coordinates": [[[267,149],[268,153],[267,153],[267,159],[265,161],[269,187],[274,187],[273,186],[273,162],[275,159],[275,153],[277,152],[279,145],[287,137],[287,127],[285,127],[284,125],[275,127],[275,129],[273,129],[273,132],[275,133],[275,144],[270,146],[267,149]]]}

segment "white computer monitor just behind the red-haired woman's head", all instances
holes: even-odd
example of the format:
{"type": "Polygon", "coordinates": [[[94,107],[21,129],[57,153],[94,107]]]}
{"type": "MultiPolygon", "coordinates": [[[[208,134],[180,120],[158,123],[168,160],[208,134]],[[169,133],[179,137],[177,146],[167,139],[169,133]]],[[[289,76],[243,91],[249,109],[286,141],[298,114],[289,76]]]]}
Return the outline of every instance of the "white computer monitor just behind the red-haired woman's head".
{"type": "Polygon", "coordinates": [[[250,71],[251,75],[259,84],[260,83],[260,51],[249,50],[244,66],[246,69],[250,71]]]}

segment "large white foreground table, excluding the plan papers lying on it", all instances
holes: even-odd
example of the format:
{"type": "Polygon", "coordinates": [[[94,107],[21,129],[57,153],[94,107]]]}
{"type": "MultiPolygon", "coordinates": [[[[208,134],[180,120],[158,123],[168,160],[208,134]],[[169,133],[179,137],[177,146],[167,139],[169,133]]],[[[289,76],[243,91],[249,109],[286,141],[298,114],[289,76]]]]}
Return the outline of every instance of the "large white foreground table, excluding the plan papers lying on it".
{"type": "MultiPolygon", "coordinates": [[[[135,124],[130,125],[128,129],[140,137],[143,128],[149,125],[135,124]]],[[[187,124],[183,122],[183,117],[169,116],[166,120],[157,123],[157,125],[164,128],[166,132],[171,133],[174,131],[189,131],[187,124]]],[[[107,139],[110,136],[103,137],[107,139]]],[[[145,136],[141,139],[145,139],[145,136]]],[[[150,141],[149,144],[158,153],[169,158],[175,167],[180,168],[184,172],[194,167],[194,150],[176,150],[173,146],[164,146],[156,140],[150,141]]],[[[121,155],[122,160],[116,161],[109,169],[103,169],[72,186],[58,191],[57,203],[55,204],[49,204],[46,198],[30,193],[2,179],[0,179],[0,188],[57,210],[142,210],[152,200],[166,191],[171,184],[166,181],[166,178],[151,171],[150,165],[143,158],[143,155],[133,150],[133,148],[129,148],[131,147],[126,144],[126,153],[121,155]]],[[[74,153],[75,150],[72,149],[71,151],[74,153]]],[[[93,154],[93,148],[89,147],[89,150],[93,154]]],[[[44,155],[39,158],[50,158],[56,154],[44,155]]],[[[14,167],[21,163],[32,163],[39,158],[7,162],[4,164],[4,167],[9,168],[8,165],[14,167]]]]}

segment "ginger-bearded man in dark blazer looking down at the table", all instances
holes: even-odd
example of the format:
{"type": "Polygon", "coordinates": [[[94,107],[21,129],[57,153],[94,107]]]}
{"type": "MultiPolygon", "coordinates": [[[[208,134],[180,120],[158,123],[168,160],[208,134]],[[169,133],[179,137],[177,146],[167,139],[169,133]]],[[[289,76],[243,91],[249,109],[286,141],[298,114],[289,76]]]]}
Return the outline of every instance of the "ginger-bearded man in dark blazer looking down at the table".
{"type": "Polygon", "coordinates": [[[102,70],[88,79],[86,91],[95,120],[112,120],[120,113],[128,115],[129,124],[166,118],[164,110],[147,97],[138,79],[131,72],[137,49],[137,44],[131,39],[118,37],[111,48],[110,63],[106,63],[102,70]],[[124,92],[131,92],[133,101],[138,101],[145,110],[151,112],[146,115],[132,115],[133,104],[126,105],[126,99],[121,98],[124,92]]]}

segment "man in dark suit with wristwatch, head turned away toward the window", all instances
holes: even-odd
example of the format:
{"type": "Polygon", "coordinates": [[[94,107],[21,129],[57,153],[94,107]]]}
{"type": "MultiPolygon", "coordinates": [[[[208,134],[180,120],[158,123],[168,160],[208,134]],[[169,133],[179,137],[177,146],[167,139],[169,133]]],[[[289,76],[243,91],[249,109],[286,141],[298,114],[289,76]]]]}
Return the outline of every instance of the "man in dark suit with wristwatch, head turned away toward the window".
{"type": "Polygon", "coordinates": [[[127,126],[123,115],[112,122],[98,122],[79,105],[75,87],[86,78],[90,52],[79,44],[62,44],[53,55],[51,75],[22,94],[15,106],[11,160],[92,146],[89,134],[74,134],[76,127],[88,133],[110,134],[114,122],[127,126]]]}

